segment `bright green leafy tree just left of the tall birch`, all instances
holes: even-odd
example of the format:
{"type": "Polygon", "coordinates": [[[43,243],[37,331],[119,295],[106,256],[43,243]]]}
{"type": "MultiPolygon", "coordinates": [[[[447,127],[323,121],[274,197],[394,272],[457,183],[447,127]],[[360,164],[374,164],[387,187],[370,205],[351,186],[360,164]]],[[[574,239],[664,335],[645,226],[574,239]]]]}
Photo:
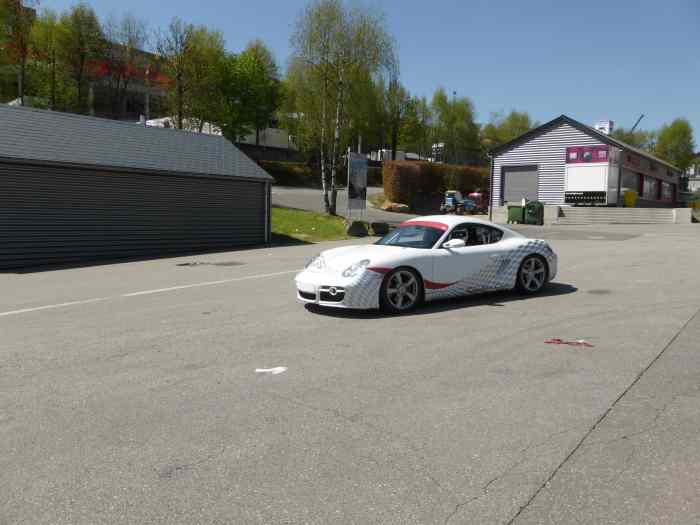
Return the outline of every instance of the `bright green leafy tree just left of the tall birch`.
{"type": "Polygon", "coordinates": [[[251,120],[255,128],[255,144],[260,144],[260,131],[270,125],[279,107],[280,81],[277,64],[261,40],[254,40],[239,57],[247,71],[250,86],[251,120]]]}

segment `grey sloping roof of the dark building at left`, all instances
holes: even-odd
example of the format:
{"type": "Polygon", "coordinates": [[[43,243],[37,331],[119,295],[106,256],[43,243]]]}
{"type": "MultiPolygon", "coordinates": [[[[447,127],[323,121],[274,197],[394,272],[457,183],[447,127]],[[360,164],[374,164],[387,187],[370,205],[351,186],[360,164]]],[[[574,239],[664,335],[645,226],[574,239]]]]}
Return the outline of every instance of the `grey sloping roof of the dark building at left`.
{"type": "Polygon", "coordinates": [[[5,104],[0,157],[272,180],[223,137],[5,104]]]}

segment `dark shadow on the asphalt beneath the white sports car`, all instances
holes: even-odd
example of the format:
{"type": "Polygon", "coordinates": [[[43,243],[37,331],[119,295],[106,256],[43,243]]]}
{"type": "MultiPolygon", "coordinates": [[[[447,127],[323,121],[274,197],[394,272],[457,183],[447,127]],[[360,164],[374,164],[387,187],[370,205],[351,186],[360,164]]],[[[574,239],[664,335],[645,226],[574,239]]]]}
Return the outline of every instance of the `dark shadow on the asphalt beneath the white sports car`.
{"type": "MultiPolygon", "coordinates": [[[[397,317],[414,317],[419,315],[428,315],[461,308],[472,308],[475,306],[493,306],[503,307],[504,303],[516,301],[534,300],[537,297],[554,297],[557,295],[573,294],[578,291],[573,285],[565,283],[550,283],[542,292],[535,296],[520,295],[515,291],[492,292],[479,295],[471,295],[467,297],[459,297],[456,299],[444,299],[425,303],[411,312],[397,314],[397,317]]],[[[327,317],[338,317],[346,319],[383,319],[393,317],[392,314],[381,312],[380,310],[346,310],[342,308],[324,307],[315,304],[305,305],[307,311],[313,314],[324,315],[327,317]]]]}

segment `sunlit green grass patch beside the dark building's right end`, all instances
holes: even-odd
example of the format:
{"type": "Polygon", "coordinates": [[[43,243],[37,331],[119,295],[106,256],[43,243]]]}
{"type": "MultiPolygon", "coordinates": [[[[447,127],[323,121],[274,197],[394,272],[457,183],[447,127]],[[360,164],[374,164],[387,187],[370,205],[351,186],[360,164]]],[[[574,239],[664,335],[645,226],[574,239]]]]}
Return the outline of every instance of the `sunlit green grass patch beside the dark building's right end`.
{"type": "Polygon", "coordinates": [[[291,208],[272,208],[272,235],[302,242],[349,239],[342,217],[291,208]]]}

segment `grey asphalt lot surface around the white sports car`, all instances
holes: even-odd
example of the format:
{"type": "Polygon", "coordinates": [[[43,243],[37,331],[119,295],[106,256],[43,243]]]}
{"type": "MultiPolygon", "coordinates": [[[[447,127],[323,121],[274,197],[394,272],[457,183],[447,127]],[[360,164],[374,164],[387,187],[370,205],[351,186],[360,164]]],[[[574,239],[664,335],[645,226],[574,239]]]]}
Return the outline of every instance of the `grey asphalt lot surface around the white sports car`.
{"type": "Polygon", "coordinates": [[[0,523],[700,522],[700,229],[521,229],[394,317],[297,304],[339,243],[0,274],[0,523]]]}

